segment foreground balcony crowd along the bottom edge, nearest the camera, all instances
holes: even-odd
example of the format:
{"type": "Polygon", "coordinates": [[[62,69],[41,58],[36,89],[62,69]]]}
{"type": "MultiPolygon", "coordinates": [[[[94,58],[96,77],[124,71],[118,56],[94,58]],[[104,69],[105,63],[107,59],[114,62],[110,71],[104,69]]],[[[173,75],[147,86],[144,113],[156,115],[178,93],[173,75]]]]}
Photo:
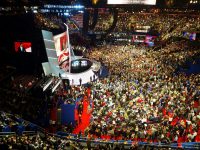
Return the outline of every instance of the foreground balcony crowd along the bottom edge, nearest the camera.
{"type": "MultiPolygon", "coordinates": [[[[0,138],[0,148],[3,150],[7,149],[40,149],[40,150],[125,150],[125,149],[150,149],[148,146],[143,145],[128,145],[118,142],[108,143],[108,142],[98,142],[98,141],[79,141],[72,140],[70,136],[68,137],[58,137],[50,134],[33,134],[33,135],[22,135],[22,136],[5,136],[0,138]]],[[[162,148],[165,150],[165,148],[162,148]]]]}

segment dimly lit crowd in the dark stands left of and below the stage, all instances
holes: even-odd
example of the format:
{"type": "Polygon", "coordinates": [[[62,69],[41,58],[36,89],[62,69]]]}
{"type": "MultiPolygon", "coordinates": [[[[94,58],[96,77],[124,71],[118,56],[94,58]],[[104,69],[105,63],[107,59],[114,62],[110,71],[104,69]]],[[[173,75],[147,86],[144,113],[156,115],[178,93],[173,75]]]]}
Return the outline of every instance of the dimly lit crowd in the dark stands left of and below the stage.
{"type": "Polygon", "coordinates": [[[40,81],[38,76],[19,75],[17,71],[4,76],[0,87],[1,111],[18,114],[34,123],[43,116],[47,117],[49,98],[45,97],[40,86],[38,88],[40,81]]]}

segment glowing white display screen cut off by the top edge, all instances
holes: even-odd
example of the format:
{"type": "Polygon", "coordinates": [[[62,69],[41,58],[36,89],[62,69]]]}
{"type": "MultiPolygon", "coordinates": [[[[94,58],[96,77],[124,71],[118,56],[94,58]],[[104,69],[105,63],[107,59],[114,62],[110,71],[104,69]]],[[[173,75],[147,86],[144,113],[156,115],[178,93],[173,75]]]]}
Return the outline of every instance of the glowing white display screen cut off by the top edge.
{"type": "Polygon", "coordinates": [[[108,0],[109,5],[124,5],[124,4],[140,4],[140,5],[156,5],[156,0],[108,0]]]}

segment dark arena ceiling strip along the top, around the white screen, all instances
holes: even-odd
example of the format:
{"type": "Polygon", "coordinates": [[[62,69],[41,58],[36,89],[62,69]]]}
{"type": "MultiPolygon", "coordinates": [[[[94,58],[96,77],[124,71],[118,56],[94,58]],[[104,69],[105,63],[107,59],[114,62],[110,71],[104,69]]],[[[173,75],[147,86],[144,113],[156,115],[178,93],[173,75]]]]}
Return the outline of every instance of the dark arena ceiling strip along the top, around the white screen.
{"type": "MultiPolygon", "coordinates": [[[[135,7],[138,5],[108,5],[108,0],[0,0],[0,7],[24,7],[24,6],[44,6],[47,4],[55,5],[83,5],[85,7],[135,7]]],[[[146,7],[142,5],[141,7],[146,7]]],[[[148,6],[147,6],[148,7],[148,6]]],[[[199,9],[200,0],[156,0],[156,8],[181,8],[199,9]]]]}

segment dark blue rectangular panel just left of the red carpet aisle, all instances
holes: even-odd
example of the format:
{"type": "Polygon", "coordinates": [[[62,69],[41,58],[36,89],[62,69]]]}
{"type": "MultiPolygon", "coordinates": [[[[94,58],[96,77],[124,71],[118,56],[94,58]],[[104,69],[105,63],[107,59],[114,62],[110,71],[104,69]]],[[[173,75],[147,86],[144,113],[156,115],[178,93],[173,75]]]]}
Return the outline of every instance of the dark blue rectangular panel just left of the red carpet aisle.
{"type": "Polygon", "coordinates": [[[61,110],[62,125],[69,123],[75,124],[75,104],[63,104],[61,110]]]}

